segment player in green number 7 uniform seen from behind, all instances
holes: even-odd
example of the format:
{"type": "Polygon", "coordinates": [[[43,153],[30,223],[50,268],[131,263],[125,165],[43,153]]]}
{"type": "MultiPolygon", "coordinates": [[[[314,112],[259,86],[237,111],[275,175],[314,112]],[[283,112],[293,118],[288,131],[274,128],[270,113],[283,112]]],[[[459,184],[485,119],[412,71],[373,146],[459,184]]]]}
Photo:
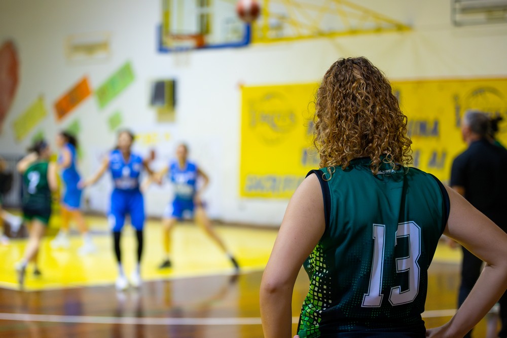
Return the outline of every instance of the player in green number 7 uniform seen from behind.
{"type": "Polygon", "coordinates": [[[41,239],[51,216],[51,192],[56,191],[56,165],[50,163],[49,145],[40,140],[29,149],[30,154],[18,162],[23,175],[23,218],[29,229],[29,240],[23,258],[16,264],[18,282],[23,287],[26,266],[37,259],[41,239]]]}

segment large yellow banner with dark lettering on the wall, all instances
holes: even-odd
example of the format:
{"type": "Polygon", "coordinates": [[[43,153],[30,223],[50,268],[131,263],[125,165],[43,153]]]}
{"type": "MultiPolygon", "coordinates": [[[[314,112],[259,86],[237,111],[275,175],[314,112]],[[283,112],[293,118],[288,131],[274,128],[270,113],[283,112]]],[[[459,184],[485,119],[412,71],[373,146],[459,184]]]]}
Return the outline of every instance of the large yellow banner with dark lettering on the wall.
{"type": "MultiPolygon", "coordinates": [[[[312,117],[318,84],[243,87],[240,196],[290,198],[318,168],[312,117]]],[[[408,117],[414,166],[448,182],[466,144],[460,123],[467,109],[500,115],[498,140],[507,144],[507,79],[393,82],[408,117]]]]}

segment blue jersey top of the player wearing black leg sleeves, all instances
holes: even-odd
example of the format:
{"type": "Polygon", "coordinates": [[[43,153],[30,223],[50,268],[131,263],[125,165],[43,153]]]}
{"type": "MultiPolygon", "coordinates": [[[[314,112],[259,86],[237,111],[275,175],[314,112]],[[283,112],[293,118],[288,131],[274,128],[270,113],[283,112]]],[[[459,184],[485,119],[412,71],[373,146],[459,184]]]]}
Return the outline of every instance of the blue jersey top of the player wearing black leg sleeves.
{"type": "Polygon", "coordinates": [[[138,189],[139,175],[142,167],[142,158],[137,154],[131,153],[128,162],[125,162],[119,150],[114,150],[109,155],[109,169],[113,177],[115,189],[138,189]]]}

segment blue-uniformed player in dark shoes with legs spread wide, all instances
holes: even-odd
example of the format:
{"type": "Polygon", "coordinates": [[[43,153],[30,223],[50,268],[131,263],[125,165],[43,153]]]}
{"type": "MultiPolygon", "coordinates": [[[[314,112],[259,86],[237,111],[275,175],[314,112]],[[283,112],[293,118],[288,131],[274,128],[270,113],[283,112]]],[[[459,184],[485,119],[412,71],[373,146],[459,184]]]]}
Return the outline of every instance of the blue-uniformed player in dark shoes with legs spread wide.
{"type": "Polygon", "coordinates": [[[168,205],[162,219],[163,244],[165,257],[159,268],[170,268],[171,252],[171,230],[178,219],[188,215],[193,217],[205,233],[226,253],[235,269],[239,269],[234,256],[227,250],[222,239],[214,232],[211,222],[204,210],[204,203],[201,194],[209,183],[208,176],[193,162],[188,160],[188,147],[186,144],[179,144],[176,148],[176,160],[171,161],[158,173],[158,181],[167,174],[173,185],[174,199],[168,205]],[[198,189],[198,179],[202,178],[203,184],[198,189]]]}

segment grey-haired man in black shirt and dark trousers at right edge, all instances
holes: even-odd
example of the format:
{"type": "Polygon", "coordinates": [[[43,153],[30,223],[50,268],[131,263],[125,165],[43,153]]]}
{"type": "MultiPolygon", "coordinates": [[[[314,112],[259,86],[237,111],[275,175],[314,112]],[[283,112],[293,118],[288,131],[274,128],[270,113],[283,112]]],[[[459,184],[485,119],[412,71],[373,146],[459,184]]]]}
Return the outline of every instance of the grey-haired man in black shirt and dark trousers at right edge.
{"type": "MultiPolygon", "coordinates": [[[[493,144],[493,140],[490,139],[490,121],[482,112],[466,112],[461,133],[468,148],[454,159],[450,185],[470,204],[507,232],[507,212],[505,211],[507,209],[507,150],[493,144]]],[[[479,278],[481,266],[482,260],[463,248],[459,306],[479,278]]],[[[504,338],[507,337],[507,292],[502,296],[499,304],[502,328],[498,336],[504,338]]],[[[466,337],[470,337],[470,332],[466,337]]]]}

